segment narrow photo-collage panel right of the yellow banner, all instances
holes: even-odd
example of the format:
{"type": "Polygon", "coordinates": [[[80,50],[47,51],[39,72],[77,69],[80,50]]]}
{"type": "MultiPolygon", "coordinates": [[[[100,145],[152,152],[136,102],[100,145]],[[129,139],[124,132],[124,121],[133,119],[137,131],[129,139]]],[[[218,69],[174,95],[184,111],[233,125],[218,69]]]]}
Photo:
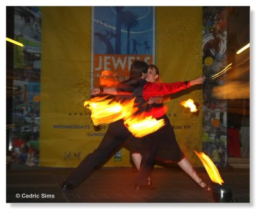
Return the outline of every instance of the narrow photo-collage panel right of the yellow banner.
{"type": "Polygon", "coordinates": [[[216,166],[227,166],[227,101],[216,99],[212,88],[223,85],[227,66],[227,20],[225,7],[204,7],[203,15],[203,143],[202,150],[216,166]]]}

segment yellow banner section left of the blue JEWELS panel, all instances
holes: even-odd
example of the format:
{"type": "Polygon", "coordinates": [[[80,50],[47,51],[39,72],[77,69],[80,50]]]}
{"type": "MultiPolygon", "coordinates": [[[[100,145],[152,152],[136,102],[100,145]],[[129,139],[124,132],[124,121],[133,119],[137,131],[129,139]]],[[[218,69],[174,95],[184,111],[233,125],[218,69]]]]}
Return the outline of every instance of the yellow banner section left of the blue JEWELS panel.
{"type": "MultiPolygon", "coordinates": [[[[108,128],[95,131],[83,106],[90,99],[91,7],[42,7],[42,13],[39,165],[76,167],[108,128]]],[[[129,153],[121,152],[106,166],[127,166],[129,153]]]]}

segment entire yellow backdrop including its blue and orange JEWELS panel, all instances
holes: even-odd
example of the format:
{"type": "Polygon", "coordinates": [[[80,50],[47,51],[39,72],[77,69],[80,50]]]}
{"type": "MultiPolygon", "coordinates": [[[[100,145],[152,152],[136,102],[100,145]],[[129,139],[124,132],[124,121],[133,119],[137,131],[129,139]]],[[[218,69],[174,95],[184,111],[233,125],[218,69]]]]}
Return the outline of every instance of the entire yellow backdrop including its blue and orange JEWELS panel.
{"type": "MultiPolygon", "coordinates": [[[[99,7],[42,8],[40,166],[76,167],[99,145],[108,125],[96,131],[83,102],[90,98],[91,88],[99,85],[101,71],[115,70],[109,62],[122,66],[139,57],[156,63],[163,82],[202,75],[202,7],[142,7],[147,23],[138,8],[124,7],[122,12],[134,20],[132,27],[126,22],[119,28],[121,42],[116,42],[115,32],[115,15],[121,8],[105,9],[113,14],[99,7]],[[138,31],[147,30],[145,25],[148,32],[140,36],[138,31]]],[[[128,66],[119,80],[128,75],[128,66]]],[[[193,152],[202,148],[202,111],[191,113],[180,102],[191,98],[202,103],[200,93],[199,87],[173,95],[167,113],[180,147],[195,166],[202,166],[193,152]]],[[[105,166],[131,166],[129,161],[129,152],[122,149],[105,166]]]]}

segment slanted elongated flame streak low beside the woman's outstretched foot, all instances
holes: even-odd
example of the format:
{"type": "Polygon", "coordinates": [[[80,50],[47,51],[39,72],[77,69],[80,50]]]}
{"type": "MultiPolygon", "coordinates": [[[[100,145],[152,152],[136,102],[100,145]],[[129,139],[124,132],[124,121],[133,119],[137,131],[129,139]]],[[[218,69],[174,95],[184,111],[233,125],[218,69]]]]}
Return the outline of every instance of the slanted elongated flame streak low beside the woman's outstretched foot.
{"type": "Polygon", "coordinates": [[[224,181],[222,180],[218,168],[215,164],[211,161],[210,157],[205,155],[204,152],[196,152],[195,154],[199,157],[200,161],[204,165],[209,177],[211,178],[212,182],[218,183],[222,185],[224,181]]]}

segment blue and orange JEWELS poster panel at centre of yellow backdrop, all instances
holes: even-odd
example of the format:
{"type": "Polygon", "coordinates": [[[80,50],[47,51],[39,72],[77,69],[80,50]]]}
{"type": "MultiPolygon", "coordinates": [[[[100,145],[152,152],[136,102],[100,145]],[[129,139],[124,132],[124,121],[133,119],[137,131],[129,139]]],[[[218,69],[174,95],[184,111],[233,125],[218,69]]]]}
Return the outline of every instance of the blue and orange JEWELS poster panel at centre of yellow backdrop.
{"type": "Polygon", "coordinates": [[[154,63],[154,18],[150,6],[92,7],[92,89],[102,71],[123,82],[134,60],[154,63]]]}

